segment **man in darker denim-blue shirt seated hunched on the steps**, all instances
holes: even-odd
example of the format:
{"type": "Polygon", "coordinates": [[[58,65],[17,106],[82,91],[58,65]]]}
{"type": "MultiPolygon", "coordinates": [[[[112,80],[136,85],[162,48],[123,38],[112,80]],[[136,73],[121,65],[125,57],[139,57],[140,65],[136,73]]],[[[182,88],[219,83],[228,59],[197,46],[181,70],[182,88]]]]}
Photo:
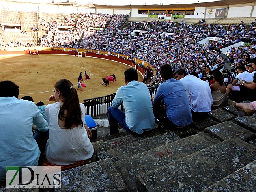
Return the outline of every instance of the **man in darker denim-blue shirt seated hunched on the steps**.
{"type": "Polygon", "coordinates": [[[155,117],[164,127],[182,128],[189,125],[192,116],[185,86],[173,78],[171,65],[162,65],[160,71],[164,83],[159,85],[155,96],[151,98],[155,117]],[[164,103],[161,103],[162,100],[164,103]]]}

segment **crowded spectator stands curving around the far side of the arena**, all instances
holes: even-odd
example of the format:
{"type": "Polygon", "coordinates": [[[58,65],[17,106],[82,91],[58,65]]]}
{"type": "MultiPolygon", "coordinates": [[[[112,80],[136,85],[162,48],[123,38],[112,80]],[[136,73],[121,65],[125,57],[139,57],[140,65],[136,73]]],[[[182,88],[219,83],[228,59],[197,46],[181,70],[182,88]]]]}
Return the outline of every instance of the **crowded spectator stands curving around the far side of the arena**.
{"type": "MultiPolygon", "coordinates": [[[[9,11],[10,14],[11,12],[9,11]]],[[[189,18],[139,20],[129,15],[95,13],[26,14],[13,11],[12,15],[16,17],[12,22],[16,23],[0,21],[2,47],[39,45],[102,50],[125,54],[131,60],[138,58],[148,62],[156,71],[163,64],[171,64],[174,70],[199,70],[204,75],[209,75],[209,65],[217,68],[225,63],[223,56],[214,50],[240,41],[252,43],[252,48],[256,47],[253,44],[256,41],[256,18],[252,17],[196,21],[189,18]],[[135,30],[137,34],[131,35],[135,30]],[[206,37],[214,38],[210,43],[196,44],[206,37]]],[[[246,61],[255,56],[253,49],[246,49],[241,53],[246,61]]],[[[157,85],[159,78],[157,74],[150,86],[157,85]]]]}

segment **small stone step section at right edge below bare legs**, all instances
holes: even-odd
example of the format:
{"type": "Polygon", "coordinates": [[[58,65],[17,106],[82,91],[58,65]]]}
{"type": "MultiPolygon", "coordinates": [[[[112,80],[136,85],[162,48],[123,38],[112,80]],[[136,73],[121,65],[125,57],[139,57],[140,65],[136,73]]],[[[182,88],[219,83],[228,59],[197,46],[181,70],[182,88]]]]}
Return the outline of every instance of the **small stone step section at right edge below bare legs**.
{"type": "Polygon", "coordinates": [[[253,114],[252,116],[237,117],[232,121],[245,129],[256,132],[256,114],[253,114]]]}

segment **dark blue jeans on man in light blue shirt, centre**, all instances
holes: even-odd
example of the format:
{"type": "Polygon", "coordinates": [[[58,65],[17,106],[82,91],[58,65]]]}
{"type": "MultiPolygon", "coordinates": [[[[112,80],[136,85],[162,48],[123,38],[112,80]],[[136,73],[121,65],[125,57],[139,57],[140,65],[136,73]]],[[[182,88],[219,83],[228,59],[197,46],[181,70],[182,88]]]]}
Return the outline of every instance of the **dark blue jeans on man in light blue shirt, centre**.
{"type": "Polygon", "coordinates": [[[110,107],[108,109],[108,122],[110,126],[110,135],[118,134],[118,123],[125,129],[127,132],[132,132],[125,122],[125,113],[118,108],[110,107]]]}

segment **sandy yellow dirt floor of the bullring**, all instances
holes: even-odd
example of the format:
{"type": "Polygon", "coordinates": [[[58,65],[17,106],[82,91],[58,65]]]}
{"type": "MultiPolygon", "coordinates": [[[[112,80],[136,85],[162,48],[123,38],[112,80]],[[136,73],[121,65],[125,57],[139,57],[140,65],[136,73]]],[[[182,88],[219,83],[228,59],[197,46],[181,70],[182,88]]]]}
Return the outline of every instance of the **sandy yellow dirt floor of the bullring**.
{"type": "MultiPolygon", "coordinates": [[[[116,93],[120,86],[125,85],[123,72],[129,66],[123,63],[98,58],[78,58],[62,55],[9,55],[0,56],[0,80],[11,80],[20,87],[19,98],[30,95],[35,103],[49,102],[48,98],[54,94],[53,85],[61,78],[69,79],[77,88],[77,78],[84,71],[91,79],[83,80],[86,88],[77,90],[80,102],[83,99],[100,97],[116,93]],[[110,87],[102,85],[102,77],[116,75],[116,83],[110,82],[110,87]]],[[[138,73],[138,81],[142,76],[138,73]]]]}

